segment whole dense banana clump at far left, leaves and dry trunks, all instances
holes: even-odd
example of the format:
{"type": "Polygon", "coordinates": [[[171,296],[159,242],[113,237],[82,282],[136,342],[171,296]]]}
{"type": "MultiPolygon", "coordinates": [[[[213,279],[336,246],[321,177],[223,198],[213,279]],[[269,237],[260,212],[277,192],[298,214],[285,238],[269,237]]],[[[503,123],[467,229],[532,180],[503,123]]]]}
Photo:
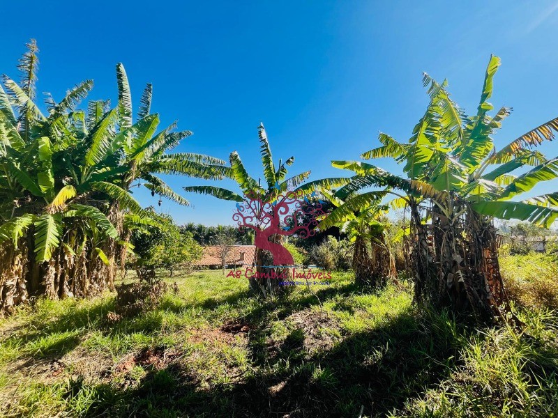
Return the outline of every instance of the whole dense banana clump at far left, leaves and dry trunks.
{"type": "MultiPolygon", "coordinates": [[[[111,109],[110,102],[96,101],[89,102],[86,110],[79,109],[93,88],[93,82],[86,80],[59,102],[48,95],[47,114],[43,114],[34,102],[38,49],[34,41],[28,47],[19,67],[20,84],[3,76],[3,87],[0,85],[0,242],[7,251],[2,268],[11,268],[11,258],[19,259],[29,249],[28,268],[34,279],[27,287],[31,291],[52,296],[85,294],[84,288],[78,291],[73,284],[56,281],[66,268],[68,280],[70,270],[87,276],[91,275],[86,273],[89,268],[99,270],[91,273],[98,275],[98,290],[103,288],[107,280],[97,261],[100,258],[114,270],[114,251],[126,226],[123,215],[132,215],[136,223],[149,222],[130,193],[134,180],[141,178],[153,192],[186,205],[186,199],[157,175],[216,178],[219,174],[213,174],[213,166],[223,162],[204,155],[167,154],[191,132],[172,132],[173,125],[156,133],[159,117],[149,114],[151,85],[142,96],[134,122],[128,79],[121,64],[116,66],[116,108],[111,109]],[[66,267],[51,268],[56,263],[66,267]]],[[[105,284],[111,282],[108,279],[105,284]]],[[[0,288],[4,285],[0,283],[0,288]]],[[[1,308],[12,302],[13,297],[0,300],[1,308]]]]}

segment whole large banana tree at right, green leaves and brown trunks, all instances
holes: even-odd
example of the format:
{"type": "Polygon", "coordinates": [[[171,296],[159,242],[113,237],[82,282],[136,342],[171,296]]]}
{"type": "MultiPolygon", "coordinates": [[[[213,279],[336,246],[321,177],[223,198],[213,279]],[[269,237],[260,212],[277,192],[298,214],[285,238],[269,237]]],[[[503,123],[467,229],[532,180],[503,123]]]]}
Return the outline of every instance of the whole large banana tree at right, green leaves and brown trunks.
{"type": "MultiPolygon", "coordinates": [[[[556,178],[556,161],[545,160],[531,148],[554,137],[558,119],[496,150],[491,135],[510,113],[503,107],[495,116],[488,116],[492,105],[487,100],[492,95],[498,66],[499,59],[492,56],[474,116],[466,116],[451,100],[447,82],[439,84],[424,75],[430,102],[409,142],[402,144],[381,134],[382,146],[362,157],[393,157],[405,164],[405,180],[411,182],[407,185],[421,183],[421,201],[415,202],[418,206],[408,201],[412,226],[417,229],[414,248],[419,250],[414,256],[418,260],[416,297],[433,304],[450,304],[458,310],[472,310],[485,318],[506,319],[509,309],[499,274],[492,219],[522,219],[543,226],[556,219],[554,208],[510,199],[527,192],[538,181],[556,178]],[[512,171],[528,165],[534,168],[513,176],[512,171]],[[423,217],[417,213],[420,206],[423,217]],[[430,219],[428,225],[423,224],[425,218],[430,219]]],[[[352,167],[354,163],[338,165],[352,167]]],[[[375,184],[387,185],[393,180],[377,167],[368,166],[364,171],[361,175],[377,180],[375,184]]]]}

